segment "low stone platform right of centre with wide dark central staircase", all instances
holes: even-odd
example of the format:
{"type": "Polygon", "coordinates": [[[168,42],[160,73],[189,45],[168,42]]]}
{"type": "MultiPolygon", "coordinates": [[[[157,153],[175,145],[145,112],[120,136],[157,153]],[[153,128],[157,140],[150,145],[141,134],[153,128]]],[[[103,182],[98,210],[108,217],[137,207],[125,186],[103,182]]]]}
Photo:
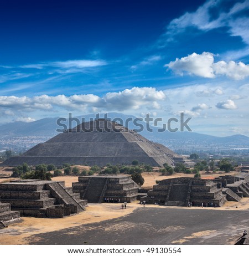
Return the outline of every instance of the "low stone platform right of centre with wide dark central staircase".
{"type": "Polygon", "coordinates": [[[182,177],[160,181],[141,201],[165,206],[188,206],[191,203],[192,206],[220,207],[226,202],[226,195],[222,193],[221,183],[182,177]]]}

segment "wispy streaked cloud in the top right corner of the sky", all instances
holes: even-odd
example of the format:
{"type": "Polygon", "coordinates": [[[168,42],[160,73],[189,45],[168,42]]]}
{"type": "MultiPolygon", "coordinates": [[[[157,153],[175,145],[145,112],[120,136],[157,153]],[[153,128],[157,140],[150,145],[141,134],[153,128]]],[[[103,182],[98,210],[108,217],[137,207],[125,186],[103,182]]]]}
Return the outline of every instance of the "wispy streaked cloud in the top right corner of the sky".
{"type": "MultiPolygon", "coordinates": [[[[207,32],[220,27],[228,27],[228,33],[232,36],[241,37],[243,42],[249,44],[249,18],[242,11],[249,9],[249,1],[235,3],[230,10],[223,11],[222,8],[225,1],[209,0],[200,6],[195,12],[186,12],[183,16],[173,19],[166,28],[166,32],[160,39],[160,44],[163,40],[173,40],[175,35],[185,32],[188,27],[207,32]],[[212,17],[212,14],[216,15],[212,17]],[[240,13],[240,18],[237,14],[240,13]],[[242,16],[242,17],[241,17],[242,16]]],[[[164,43],[165,46],[165,43],[164,43]]]]}

